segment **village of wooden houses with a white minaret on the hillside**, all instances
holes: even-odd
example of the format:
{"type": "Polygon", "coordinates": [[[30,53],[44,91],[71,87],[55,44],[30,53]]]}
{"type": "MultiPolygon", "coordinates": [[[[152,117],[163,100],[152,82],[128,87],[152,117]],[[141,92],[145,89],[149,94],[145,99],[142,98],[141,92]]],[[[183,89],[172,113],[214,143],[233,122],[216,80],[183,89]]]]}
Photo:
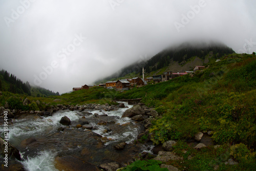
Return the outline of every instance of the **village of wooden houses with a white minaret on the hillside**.
{"type": "MultiPolygon", "coordinates": [[[[144,78],[144,68],[142,69],[142,78],[140,77],[134,77],[134,78],[126,78],[126,79],[119,79],[116,81],[107,81],[105,83],[101,83],[98,86],[107,88],[107,89],[116,89],[117,91],[123,91],[123,90],[129,90],[134,87],[139,88],[143,86],[147,86],[150,83],[159,83],[163,81],[168,81],[173,78],[177,78],[186,74],[193,74],[198,70],[203,70],[204,66],[195,66],[193,71],[185,71],[183,73],[177,72],[174,73],[172,71],[164,72],[161,75],[154,75],[152,77],[144,78]]],[[[88,86],[85,84],[84,86],[81,86],[80,88],[73,88],[73,91],[78,90],[88,90],[90,87],[94,86],[88,86]]]]}

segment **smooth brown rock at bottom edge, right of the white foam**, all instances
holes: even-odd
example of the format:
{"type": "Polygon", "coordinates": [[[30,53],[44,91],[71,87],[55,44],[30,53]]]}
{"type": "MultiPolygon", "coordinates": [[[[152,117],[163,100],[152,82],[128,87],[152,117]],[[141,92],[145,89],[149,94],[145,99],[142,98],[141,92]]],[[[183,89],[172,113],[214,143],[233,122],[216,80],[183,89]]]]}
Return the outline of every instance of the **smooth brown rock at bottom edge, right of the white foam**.
{"type": "Polygon", "coordinates": [[[83,171],[86,169],[90,171],[100,171],[97,166],[74,156],[56,157],[54,166],[58,170],[83,171]]]}

